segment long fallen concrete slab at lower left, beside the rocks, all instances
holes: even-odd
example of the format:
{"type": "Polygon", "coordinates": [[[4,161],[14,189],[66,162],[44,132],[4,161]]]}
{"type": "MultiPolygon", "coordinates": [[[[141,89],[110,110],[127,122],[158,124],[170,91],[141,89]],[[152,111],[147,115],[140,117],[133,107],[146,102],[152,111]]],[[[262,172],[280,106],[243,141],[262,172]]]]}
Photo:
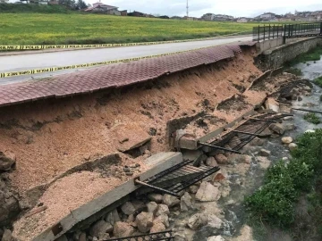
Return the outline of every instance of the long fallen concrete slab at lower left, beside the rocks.
{"type": "MultiPolygon", "coordinates": [[[[147,160],[149,169],[140,175],[140,180],[149,179],[155,176],[157,173],[169,169],[180,162],[182,162],[181,153],[161,153],[151,156],[147,160]]],[[[129,195],[138,188],[139,186],[134,184],[134,178],[130,179],[106,194],[99,196],[97,199],[90,201],[88,204],[84,204],[80,206],[80,208],[72,210],[64,217],[64,219],[56,220],[54,227],[46,227],[42,233],[35,234],[34,237],[29,237],[28,239],[25,238],[23,241],[54,241],[56,238],[63,236],[64,233],[66,233],[69,229],[72,229],[72,227],[80,221],[86,220],[93,214],[101,211],[108,205],[114,204],[116,201],[120,200],[126,195],[129,195]]],[[[21,217],[21,220],[23,219],[26,219],[26,217],[21,217]]],[[[41,220],[35,221],[38,221],[38,224],[42,225],[41,220]]],[[[25,226],[19,226],[20,230],[14,229],[13,236],[21,233],[23,229],[28,229],[28,222],[25,223],[25,226]]],[[[18,238],[18,240],[22,240],[21,237],[16,238],[18,238]]]]}

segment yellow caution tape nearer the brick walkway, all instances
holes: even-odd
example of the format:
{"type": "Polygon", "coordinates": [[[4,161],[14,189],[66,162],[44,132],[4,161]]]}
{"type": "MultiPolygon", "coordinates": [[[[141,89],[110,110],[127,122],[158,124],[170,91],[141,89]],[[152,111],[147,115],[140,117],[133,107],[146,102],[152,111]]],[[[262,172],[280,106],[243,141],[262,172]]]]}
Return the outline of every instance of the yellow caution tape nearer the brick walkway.
{"type": "Polygon", "coordinates": [[[28,71],[4,72],[4,73],[0,73],[0,78],[17,77],[17,76],[21,76],[21,75],[31,75],[31,74],[39,74],[39,73],[45,73],[45,72],[53,72],[53,71],[65,71],[65,70],[73,70],[73,69],[80,69],[80,68],[89,68],[89,67],[95,67],[95,66],[118,63],[118,62],[138,61],[138,60],[151,59],[151,58],[156,58],[156,57],[161,57],[161,56],[166,56],[166,55],[172,55],[172,54],[181,54],[181,53],[196,51],[196,50],[204,49],[204,48],[208,48],[208,47],[211,47],[211,46],[200,47],[200,48],[196,48],[196,49],[190,49],[190,50],[179,51],[179,52],[166,53],[166,54],[156,54],[156,55],[148,55],[148,56],[143,56],[143,57],[122,59],[122,60],[80,63],[80,64],[74,64],[74,65],[68,65],[68,66],[50,67],[50,68],[28,70],[28,71]]]}

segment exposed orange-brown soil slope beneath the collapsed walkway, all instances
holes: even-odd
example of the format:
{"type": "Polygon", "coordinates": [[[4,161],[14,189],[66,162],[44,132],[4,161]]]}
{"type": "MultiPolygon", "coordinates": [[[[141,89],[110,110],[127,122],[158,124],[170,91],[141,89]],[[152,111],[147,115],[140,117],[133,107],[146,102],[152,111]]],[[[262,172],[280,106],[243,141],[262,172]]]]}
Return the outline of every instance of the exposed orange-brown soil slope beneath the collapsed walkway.
{"type": "MultiPolygon", "coordinates": [[[[12,151],[17,158],[16,170],[10,174],[12,184],[24,191],[45,183],[83,162],[117,153],[127,137],[140,139],[142,131],[151,137],[152,154],[168,151],[168,120],[198,112],[214,115],[219,103],[240,95],[260,74],[249,52],[141,85],[3,108],[0,150],[12,151]],[[115,134],[119,126],[127,131],[122,140],[115,134]]],[[[247,100],[264,92],[247,93],[241,108],[250,109],[252,101],[247,104],[247,100]]],[[[229,119],[236,115],[227,109],[220,112],[218,121],[209,121],[208,131],[229,121],[225,115],[229,119]]],[[[127,164],[143,159],[122,158],[127,164]]]]}

